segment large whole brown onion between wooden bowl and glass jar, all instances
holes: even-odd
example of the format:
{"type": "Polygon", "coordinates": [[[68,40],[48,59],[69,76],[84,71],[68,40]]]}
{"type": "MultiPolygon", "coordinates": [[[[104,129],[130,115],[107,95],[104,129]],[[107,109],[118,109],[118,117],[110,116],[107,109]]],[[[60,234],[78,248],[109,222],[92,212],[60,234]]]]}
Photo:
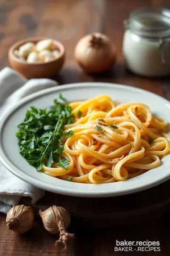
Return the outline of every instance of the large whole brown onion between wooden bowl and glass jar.
{"type": "Polygon", "coordinates": [[[75,47],[77,63],[88,73],[102,73],[116,61],[116,47],[110,38],[93,33],[83,37],[75,47]]]}

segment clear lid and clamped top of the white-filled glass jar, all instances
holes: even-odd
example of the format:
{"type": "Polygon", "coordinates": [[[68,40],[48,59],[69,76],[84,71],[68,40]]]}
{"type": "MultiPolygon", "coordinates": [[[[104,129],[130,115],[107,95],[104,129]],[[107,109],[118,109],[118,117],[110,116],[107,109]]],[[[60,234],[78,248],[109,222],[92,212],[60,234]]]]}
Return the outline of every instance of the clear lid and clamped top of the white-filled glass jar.
{"type": "Polygon", "coordinates": [[[138,9],[125,24],[139,36],[170,37],[170,9],[138,9]]]}

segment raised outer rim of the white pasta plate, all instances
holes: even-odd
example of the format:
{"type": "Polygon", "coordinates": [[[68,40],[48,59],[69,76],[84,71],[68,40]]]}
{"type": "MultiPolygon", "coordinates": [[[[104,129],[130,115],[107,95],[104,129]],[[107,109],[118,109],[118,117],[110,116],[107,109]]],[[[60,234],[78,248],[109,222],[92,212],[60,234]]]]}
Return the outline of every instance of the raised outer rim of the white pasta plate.
{"type": "MultiPolygon", "coordinates": [[[[15,104],[15,106],[12,106],[10,109],[8,109],[7,111],[5,111],[5,113],[1,116],[0,118],[0,138],[2,137],[2,131],[3,131],[3,127],[6,123],[6,121],[8,119],[10,119],[10,116],[15,112],[15,110],[17,110],[19,107],[21,107],[22,105],[24,105],[25,103],[28,103],[31,100],[40,98],[42,95],[46,94],[46,93],[51,93],[53,91],[59,92],[59,91],[63,91],[63,90],[67,90],[68,88],[72,87],[72,88],[78,88],[78,87],[104,87],[104,86],[108,86],[111,88],[124,88],[126,90],[132,90],[132,91],[138,91],[138,92],[143,92],[146,93],[148,95],[151,96],[154,95],[154,97],[156,96],[157,98],[163,100],[165,103],[168,103],[170,105],[170,101],[168,101],[167,99],[161,97],[160,95],[141,89],[141,88],[136,88],[130,85],[124,85],[124,84],[119,84],[119,83],[112,83],[112,82],[77,82],[77,83],[68,83],[68,84],[64,84],[64,85],[57,85],[54,87],[50,87],[47,89],[43,89],[41,91],[37,91],[34,92],[28,96],[26,96],[25,98],[23,98],[22,100],[18,101],[17,104],[15,104]]],[[[35,187],[38,187],[42,190],[46,190],[46,191],[51,191],[54,193],[59,193],[59,194],[63,194],[63,195],[69,195],[69,196],[76,196],[76,197],[113,197],[113,196],[120,196],[120,195],[125,195],[125,194],[131,194],[134,192],[140,192],[140,191],[144,191],[148,188],[152,188],[154,186],[157,186],[158,184],[161,184],[167,180],[170,179],[170,169],[168,169],[166,171],[166,173],[164,174],[163,178],[160,180],[160,178],[158,177],[157,180],[153,179],[151,181],[149,181],[147,183],[147,185],[143,186],[142,184],[139,184],[138,186],[135,186],[135,188],[131,188],[131,190],[127,191],[127,190],[120,190],[119,192],[115,192],[112,191],[110,192],[110,190],[104,190],[104,191],[86,191],[86,192],[77,192],[74,191],[70,188],[67,188],[65,191],[65,188],[59,187],[59,189],[57,189],[55,187],[55,190],[53,188],[49,188],[49,184],[46,184],[42,181],[37,181],[34,177],[29,176],[26,173],[23,173],[21,169],[19,169],[22,172],[22,175],[20,175],[16,169],[18,169],[16,166],[12,165],[12,163],[8,160],[8,157],[6,156],[5,152],[3,152],[3,145],[0,139],[0,162],[2,163],[2,165],[4,165],[8,171],[12,174],[14,174],[15,176],[17,176],[19,179],[25,181],[26,183],[28,183],[27,178],[29,179],[29,182],[31,182],[31,184],[33,184],[35,187]],[[168,172],[169,171],[169,172],[168,172]]],[[[93,184],[92,184],[93,185],[93,184]]],[[[102,184],[94,184],[97,186],[100,186],[102,184]]]]}

